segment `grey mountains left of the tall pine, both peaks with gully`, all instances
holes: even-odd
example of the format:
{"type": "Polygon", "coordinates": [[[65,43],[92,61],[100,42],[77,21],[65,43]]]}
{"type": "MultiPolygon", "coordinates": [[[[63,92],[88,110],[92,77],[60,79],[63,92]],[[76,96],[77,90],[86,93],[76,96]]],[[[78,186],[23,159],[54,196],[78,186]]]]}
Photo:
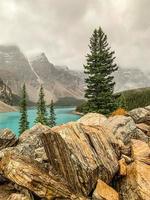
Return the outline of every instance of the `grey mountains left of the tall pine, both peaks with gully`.
{"type": "Polygon", "coordinates": [[[78,72],[54,66],[44,53],[29,61],[17,46],[0,46],[0,78],[15,95],[20,95],[25,82],[29,99],[33,102],[38,99],[41,84],[47,102],[66,96],[83,97],[83,80],[78,72]]]}

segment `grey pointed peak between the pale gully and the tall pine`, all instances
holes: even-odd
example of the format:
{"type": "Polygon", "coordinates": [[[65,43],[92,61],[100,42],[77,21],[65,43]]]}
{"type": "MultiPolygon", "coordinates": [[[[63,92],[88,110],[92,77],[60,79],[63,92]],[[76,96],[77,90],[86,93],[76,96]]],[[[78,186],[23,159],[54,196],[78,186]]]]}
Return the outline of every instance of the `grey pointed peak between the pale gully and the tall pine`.
{"type": "Polygon", "coordinates": [[[56,100],[60,97],[83,97],[83,79],[75,71],[54,66],[44,53],[30,61],[37,79],[44,85],[49,98],[56,100]]]}

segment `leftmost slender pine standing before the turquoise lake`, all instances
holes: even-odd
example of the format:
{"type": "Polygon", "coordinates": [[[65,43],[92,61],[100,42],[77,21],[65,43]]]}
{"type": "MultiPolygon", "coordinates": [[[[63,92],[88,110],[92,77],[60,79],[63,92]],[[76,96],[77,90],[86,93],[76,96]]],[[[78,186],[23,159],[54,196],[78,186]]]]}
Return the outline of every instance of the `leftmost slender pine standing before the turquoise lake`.
{"type": "Polygon", "coordinates": [[[22,87],[22,95],[20,101],[20,120],[19,120],[19,135],[29,128],[27,116],[27,93],[25,84],[22,87]]]}

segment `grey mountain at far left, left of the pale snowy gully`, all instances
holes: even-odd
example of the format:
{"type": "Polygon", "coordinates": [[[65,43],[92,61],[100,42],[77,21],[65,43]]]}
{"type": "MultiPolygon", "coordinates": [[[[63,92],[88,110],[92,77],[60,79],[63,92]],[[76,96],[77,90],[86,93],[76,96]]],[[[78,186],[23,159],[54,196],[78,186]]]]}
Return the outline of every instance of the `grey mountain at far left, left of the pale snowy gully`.
{"type": "Polygon", "coordinates": [[[32,72],[28,59],[17,46],[0,46],[0,78],[15,95],[20,95],[20,89],[25,82],[29,98],[35,100],[38,89],[35,74],[32,72]]]}

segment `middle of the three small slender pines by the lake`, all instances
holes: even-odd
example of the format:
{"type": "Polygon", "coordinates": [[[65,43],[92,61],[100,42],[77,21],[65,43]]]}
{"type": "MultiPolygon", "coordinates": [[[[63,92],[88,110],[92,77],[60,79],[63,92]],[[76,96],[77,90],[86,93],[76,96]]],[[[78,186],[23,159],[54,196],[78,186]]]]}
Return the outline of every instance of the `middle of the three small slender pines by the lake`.
{"type": "Polygon", "coordinates": [[[43,125],[48,125],[47,119],[47,110],[46,110],[46,102],[44,100],[44,89],[41,85],[39,92],[39,100],[37,103],[37,117],[35,119],[35,123],[41,123],[43,125]]]}

